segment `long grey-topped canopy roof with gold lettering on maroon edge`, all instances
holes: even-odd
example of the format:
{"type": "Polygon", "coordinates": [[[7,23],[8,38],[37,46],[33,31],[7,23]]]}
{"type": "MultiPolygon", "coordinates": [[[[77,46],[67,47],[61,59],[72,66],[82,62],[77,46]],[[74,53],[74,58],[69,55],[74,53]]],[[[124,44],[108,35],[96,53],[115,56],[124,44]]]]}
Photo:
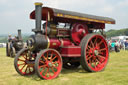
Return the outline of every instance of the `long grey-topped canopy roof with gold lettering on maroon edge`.
{"type": "MultiPolygon", "coordinates": [[[[107,23],[107,24],[115,24],[115,20],[108,17],[101,17],[89,14],[83,14],[72,11],[65,11],[55,8],[43,7],[42,8],[42,20],[46,20],[48,16],[48,12],[50,15],[50,19],[57,22],[97,22],[97,23],[107,23]]],[[[31,19],[35,19],[35,10],[30,14],[31,19]]]]}

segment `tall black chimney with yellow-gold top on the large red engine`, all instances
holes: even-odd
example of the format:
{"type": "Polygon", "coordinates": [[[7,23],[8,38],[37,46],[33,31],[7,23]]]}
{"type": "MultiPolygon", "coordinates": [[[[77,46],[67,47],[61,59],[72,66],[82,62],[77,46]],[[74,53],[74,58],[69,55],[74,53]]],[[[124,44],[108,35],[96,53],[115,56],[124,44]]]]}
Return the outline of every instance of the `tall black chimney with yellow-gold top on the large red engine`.
{"type": "Polygon", "coordinates": [[[35,3],[35,32],[41,33],[42,3],[35,3]]]}

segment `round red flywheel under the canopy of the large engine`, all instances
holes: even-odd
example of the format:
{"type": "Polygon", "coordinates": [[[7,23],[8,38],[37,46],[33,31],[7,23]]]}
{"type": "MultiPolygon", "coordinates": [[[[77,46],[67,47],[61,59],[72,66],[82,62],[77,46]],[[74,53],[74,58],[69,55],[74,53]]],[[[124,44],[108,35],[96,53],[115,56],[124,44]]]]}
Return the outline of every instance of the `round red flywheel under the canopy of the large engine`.
{"type": "Polygon", "coordinates": [[[75,23],[72,26],[71,36],[76,45],[79,45],[81,39],[88,34],[88,27],[86,24],[75,23]]]}

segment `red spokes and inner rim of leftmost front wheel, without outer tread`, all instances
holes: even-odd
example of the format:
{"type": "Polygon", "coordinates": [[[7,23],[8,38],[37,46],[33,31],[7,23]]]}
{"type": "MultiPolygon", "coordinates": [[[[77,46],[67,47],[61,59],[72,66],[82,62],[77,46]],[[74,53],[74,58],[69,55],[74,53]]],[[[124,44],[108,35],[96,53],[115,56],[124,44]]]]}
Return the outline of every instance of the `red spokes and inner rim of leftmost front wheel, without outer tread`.
{"type": "Polygon", "coordinates": [[[30,59],[28,51],[21,53],[17,58],[17,67],[22,75],[31,75],[35,73],[34,64],[27,63],[29,61],[35,61],[35,55],[33,54],[30,59]]]}

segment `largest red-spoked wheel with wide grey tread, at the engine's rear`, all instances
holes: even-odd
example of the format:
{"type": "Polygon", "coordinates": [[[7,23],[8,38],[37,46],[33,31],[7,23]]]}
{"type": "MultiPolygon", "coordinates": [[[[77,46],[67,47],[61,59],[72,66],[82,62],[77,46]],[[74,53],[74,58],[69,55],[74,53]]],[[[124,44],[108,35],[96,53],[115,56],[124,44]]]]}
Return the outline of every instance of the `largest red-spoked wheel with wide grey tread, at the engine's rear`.
{"type": "Polygon", "coordinates": [[[107,65],[107,42],[99,34],[88,34],[81,41],[81,65],[89,72],[102,71],[107,65]]]}

